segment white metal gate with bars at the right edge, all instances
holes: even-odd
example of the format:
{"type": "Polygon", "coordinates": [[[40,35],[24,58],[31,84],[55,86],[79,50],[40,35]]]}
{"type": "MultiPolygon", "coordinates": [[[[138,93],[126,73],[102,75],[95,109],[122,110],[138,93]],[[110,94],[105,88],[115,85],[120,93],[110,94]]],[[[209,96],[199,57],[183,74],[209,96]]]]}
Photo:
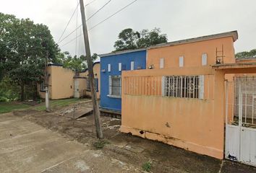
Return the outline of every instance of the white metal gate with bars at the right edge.
{"type": "Polygon", "coordinates": [[[226,159],[256,166],[256,78],[239,77],[229,84],[226,83],[226,159]]]}

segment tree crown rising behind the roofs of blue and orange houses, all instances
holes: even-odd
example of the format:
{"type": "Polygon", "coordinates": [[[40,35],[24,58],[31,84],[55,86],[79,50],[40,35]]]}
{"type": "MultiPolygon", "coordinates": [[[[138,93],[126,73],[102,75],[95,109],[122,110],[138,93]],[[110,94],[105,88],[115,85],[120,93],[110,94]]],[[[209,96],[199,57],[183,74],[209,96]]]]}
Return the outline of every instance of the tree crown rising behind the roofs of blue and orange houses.
{"type": "Polygon", "coordinates": [[[122,30],[119,33],[119,40],[114,44],[115,51],[129,50],[137,48],[147,48],[150,45],[157,45],[167,42],[167,35],[161,34],[159,28],[153,30],[142,30],[137,32],[131,28],[122,30]]]}

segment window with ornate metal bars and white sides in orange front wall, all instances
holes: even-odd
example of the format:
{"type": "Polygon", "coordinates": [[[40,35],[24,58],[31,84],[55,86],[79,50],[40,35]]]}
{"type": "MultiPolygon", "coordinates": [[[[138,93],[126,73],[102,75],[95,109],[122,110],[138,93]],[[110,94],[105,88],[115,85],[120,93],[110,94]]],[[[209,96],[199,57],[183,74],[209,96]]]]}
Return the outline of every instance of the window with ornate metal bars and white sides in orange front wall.
{"type": "Polygon", "coordinates": [[[204,76],[163,76],[163,96],[203,99],[204,76]]]}

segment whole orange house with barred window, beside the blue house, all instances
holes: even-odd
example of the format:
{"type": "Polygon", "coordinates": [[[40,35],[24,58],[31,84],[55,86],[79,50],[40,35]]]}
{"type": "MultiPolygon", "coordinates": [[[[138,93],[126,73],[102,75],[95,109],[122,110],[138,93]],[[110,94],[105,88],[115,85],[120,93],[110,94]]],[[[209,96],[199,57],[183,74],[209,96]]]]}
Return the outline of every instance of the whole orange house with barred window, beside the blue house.
{"type": "Polygon", "coordinates": [[[213,66],[236,62],[237,38],[232,31],[148,48],[148,69],[121,74],[121,132],[223,159],[225,72],[213,66]]]}

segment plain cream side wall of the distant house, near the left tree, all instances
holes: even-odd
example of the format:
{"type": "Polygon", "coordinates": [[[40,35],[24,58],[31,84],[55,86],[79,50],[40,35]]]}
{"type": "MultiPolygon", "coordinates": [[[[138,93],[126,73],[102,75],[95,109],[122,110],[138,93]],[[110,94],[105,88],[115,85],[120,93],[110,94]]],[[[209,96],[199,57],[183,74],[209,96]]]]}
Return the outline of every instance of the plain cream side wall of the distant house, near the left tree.
{"type": "MultiPolygon", "coordinates": [[[[74,96],[74,71],[62,66],[48,66],[50,99],[66,99],[74,96]]],[[[45,92],[39,95],[45,98],[45,92]]]]}

